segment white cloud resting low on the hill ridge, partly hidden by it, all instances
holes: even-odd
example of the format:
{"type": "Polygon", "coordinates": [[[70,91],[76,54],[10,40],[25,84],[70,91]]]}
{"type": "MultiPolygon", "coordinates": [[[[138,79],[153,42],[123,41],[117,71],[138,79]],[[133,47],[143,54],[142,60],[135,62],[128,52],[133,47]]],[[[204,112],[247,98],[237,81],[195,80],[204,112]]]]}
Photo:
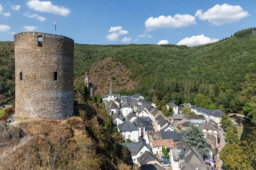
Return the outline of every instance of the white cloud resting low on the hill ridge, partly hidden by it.
{"type": "Polygon", "coordinates": [[[201,45],[201,44],[207,44],[212,42],[217,42],[219,39],[215,38],[209,38],[205,37],[204,34],[192,36],[192,37],[186,37],[183,40],[180,40],[180,42],[177,43],[177,45],[187,45],[187,46],[195,46],[195,45],[201,45]]]}

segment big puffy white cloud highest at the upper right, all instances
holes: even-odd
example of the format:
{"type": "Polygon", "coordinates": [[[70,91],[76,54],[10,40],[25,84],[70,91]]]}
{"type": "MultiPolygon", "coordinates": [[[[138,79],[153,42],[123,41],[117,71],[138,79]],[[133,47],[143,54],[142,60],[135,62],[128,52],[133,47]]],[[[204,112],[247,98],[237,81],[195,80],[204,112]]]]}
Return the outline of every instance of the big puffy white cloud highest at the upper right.
{"type": "Polygon", "coordinates": [[[227,3],[221,6],[217,4],[204,13],[202,11],[202,9],[198,10],[195,16],[200,20],[208,20],[209,23],[216,26],[221,26],[225,23],[235,23],[250,15],[241,6],[232,6],[227,3]]]}

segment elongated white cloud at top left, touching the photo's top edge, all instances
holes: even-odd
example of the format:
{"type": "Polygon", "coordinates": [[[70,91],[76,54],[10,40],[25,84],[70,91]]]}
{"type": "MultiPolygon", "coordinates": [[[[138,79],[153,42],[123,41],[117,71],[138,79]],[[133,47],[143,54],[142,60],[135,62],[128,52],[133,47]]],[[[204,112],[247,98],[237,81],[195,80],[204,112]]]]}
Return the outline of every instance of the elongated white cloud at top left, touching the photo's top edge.
{"type": "Polygon", "coordinates": [[[52,14],[62,15],[67,17],[70,14],[70,10],[64,6],[55,6],[51,3],[51,1],[39,1],[39,0],[29,0],[26,5],[40,12],[48,12],[52,14]]]}

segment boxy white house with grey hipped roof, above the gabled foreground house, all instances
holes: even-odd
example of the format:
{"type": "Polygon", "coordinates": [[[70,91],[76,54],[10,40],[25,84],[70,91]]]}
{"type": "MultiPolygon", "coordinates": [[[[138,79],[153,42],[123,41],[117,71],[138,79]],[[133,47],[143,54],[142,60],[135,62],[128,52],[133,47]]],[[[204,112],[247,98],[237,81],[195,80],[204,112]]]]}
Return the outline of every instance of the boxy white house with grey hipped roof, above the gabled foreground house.
{"type": "Polygon", "coordinates": [[[126,120],[117,126],[119,132],[122,132],[123,139],[130,139],[133,142],[139,141],[139,129],[132,122],[126,120]]]}

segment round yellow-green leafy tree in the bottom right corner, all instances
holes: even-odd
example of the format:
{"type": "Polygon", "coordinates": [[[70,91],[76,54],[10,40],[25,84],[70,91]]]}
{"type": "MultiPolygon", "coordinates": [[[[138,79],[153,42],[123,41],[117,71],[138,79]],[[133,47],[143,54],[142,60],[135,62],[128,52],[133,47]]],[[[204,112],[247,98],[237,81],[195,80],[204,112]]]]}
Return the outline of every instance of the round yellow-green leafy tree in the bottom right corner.
{"type": "Polygon", "coordinates": [[[244,150],[237,144],[225,145],[221,150],[220,159],[227,170],[253,170],[244,150]]]}

